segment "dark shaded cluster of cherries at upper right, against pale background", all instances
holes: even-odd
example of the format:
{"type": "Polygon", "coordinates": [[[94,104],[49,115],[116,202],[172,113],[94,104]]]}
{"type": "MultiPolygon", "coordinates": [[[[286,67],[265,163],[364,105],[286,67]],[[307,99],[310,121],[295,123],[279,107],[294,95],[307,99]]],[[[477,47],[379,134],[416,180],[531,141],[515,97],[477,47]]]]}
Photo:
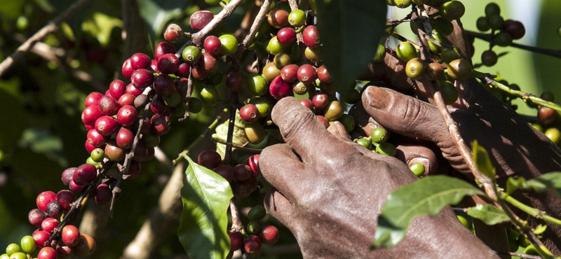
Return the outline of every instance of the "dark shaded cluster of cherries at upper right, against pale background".
{"type": "Polygon", "coordinates": [[[492,50],[494,45],[506,47],[526,34],[522,22],[517,20],[504,20],[501,16],[501,8],[496,3],[487,3],[485,16],[478,18],[476,25],[480,31],[491,30],[492,41],[489,42],[489,50],[481,54],[481,63],[485,66],[493,66],[499,58],[492,50]]]}

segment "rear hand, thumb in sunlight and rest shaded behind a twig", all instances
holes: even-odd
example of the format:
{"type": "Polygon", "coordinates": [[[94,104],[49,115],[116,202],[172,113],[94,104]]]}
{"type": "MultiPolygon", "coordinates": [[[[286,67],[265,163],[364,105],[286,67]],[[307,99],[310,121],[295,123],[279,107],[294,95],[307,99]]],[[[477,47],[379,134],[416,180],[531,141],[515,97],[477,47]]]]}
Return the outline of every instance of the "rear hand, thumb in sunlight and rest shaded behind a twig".
{"type": "MultiPolygon", "coordinates": [[[[461,108],[450,109],[451,115],[466,144],[477,140],[487,149],[496,167],[499,185],[504,186],[508,176],[532,179],[543,173],[561,170],[561,151],[545,135],[475,80],[464,83],[468,84],[469,90],[461,94],[461,108]]],[[[363,109],[391,132],[433,141],[454,169],[471,176],[436,106],[387,88],[372,86],[363,94],[363,109]]],[[[517,192],[515,197],[550,215],[561,215],[561,200],[556,195],[517,192]]],[[[532,225],[541,223],[523,213],[519,216],[530,220],[532,225]]],[[[559,254],[560,237],[561,228],[549,225],[543,241],[551,251],[559,254]]]]}

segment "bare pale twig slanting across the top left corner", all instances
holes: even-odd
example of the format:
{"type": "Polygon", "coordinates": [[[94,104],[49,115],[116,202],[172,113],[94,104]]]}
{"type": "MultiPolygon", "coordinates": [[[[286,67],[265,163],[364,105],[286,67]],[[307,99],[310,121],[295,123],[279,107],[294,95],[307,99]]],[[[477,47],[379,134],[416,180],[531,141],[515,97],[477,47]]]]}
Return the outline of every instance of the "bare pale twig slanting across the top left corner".
{"type": "Polygon", "coordinates": [[[16,49],[10,57],[6,57],[3,62],[0,63],[0,76],[2,76],[6,71],[13,65],[14,62],[18,61],[20,58],[23,57],[25,52],[29,51],[32,46],[37,42],[41,41],[42,38],[47,36],[48,34],[57,31],[62,22],[65,22],[68,18],[72,15],[78,13],[78,11],[86,6],[92,0],[79,0],[70,6],[65,13],[58,15],[55,19],[50,20],[47,25],[43,28],[39,29],[33,36],[27,39],[18,49],[16,49]]]}

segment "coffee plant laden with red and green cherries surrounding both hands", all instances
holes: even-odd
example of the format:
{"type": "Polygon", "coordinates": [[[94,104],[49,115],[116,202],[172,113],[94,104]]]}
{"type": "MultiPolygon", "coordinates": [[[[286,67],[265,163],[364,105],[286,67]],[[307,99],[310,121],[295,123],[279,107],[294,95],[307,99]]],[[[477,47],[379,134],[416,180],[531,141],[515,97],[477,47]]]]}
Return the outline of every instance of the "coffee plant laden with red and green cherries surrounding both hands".
{"type": "Polygon", "coordinates": [[[527,123],[561,144],[561,106],[553,92],[534,95],[489,73],[509,55],[501,52],[505,48],[561,56],[517,43],[526,34],[525,25],[496,3],[481,2],[474,10],[480,17],[470,25],[461,22],[468,10],[456,0],[124,0],[121,6],[96,5],[85,22],[79,15],[88,13],[83,9],[90,1],[77,1],[67,10],[59,10],[59,1],[50,2],[15,1],[21,14],[7,14],[11,23],[1,31],[1,44],[21,45],[9,57],[1,53],[0,90],[7,96],[0,97],[6,113],[2,124],[9,127],[2,130],[0,142],[0,205],[13,213],[0,223],[18,222],[13,217],[25,214],[28,223],[0,238],[0,246],[6,246],[0,259],[116,257],[120,251],[109,252],[111,245],[134,237],[111,232],[107,224],[115,232],[137,227],[121,224],[132,218],[127,214],[150,221],[122,258],[158,258],[170,250],[177,253],[177,246],[189,258],[283,258],[284,252],[272,252],[274,244],[288,251],[297,246],[262,205],[271,185],[259,169],[259,153],[283,142],[271,120],[273,106],[295,97],[326,129],[340,125],[357,145],[404,160],[396,148],[403,136],[362,124],[364,111],[356,107],[370,85],[438,106],[475,179],[435,175],[442,172],[435,165],[408,161],[419,180],[389,195],[372,249],[396,246],[414,218],[434,216],[453,205],[459,221],[475,235],[475,222],[506,231],[500,237],[508,247],[497,250],[502,255],[560,256],[555,254],[558,247],[550,251],[541,241],[544,232],[561,225],[559,215],[548,215],[511,194],[520,189],[560,195],[561,172],[536,179],[508,177],[499,186],[486,150],[493,146],[478,141],[467,146],[450,114],[470,90],[465,82],[478,80],[509,109],[521,108],[521,99],[536,114],[525,116],[527,123]],[[114,18],[121,15],[109,10],[113,7],[128,16],[114,18]],[[398,8],[407,14],[386,19],[387,12],[398,8]],[[46,13],[54,19],[44,27],[31,19],[46,13]],[[29,34],[30,29],[38,32],[29,34]],[[407,30],[413,36],[404,36],[407,30]],[[477,59],[475,41],[486,45],[477,59]],[[34,66],[47,66],[50,72],[34,71],[34,66]],[[74,87],[81,83],[88,86],[74,87]],[[12,113],[20,106],[36,114],[12,113]],[[42,127],[60,132],[62,140],[42,127]],[[170,161],[162,148],[173,151],[175,159],[170,161]],[[65,158],[69,154],[80,158],[65,158]],[[35,161],[43,157],[50,162],[35,161]],[[174,167],[181,170],[179,178],[168,174],[174,167]],[[29,179],[20,170],[41,175],[29,179]],[[50,181],[59,177],[62,186],[50,181]],[[26,184],[16,186],[12,179],[26,184]],[[160,192],[159,201],[149,197],[160,192]],[[166,192],[175,200],[165,200],[166,192]],[[32,197],[35,204],[18,204],[19,195],[32,197]],[[457,205],[475,195],[484,202],[457,205]],[[86,206],[88,202],[95,204],[86,206]],[[147,215],[145,204],[153,203],[169,208],[147,215]],[[528,225],[512,208],[538,218],[541,225],[528,225]],[[121,225],[107,223],[107,217],[121,225]],[[101,225],[101,231],[88,229],[88,224],[101,225]],[[175,230],[174,241],[163,244],[175,230]]]}

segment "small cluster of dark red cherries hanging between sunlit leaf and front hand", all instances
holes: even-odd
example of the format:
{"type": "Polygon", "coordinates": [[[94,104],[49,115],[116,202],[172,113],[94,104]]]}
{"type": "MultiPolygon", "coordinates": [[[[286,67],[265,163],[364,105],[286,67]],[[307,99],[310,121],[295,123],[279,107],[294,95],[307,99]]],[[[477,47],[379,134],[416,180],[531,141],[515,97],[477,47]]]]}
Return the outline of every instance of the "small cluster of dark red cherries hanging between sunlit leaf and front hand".
{"type": "Polygon", "coordinates": [[[262,225],[266,216],[265,208],[257,205],[248,212],[247,232],[233,231],[230,237],[230,254],[238,249],[243,249],[251,258],[261,253],[262,244],[275,244],[278,241],[278,229],[273,225],[262,225]]]}

